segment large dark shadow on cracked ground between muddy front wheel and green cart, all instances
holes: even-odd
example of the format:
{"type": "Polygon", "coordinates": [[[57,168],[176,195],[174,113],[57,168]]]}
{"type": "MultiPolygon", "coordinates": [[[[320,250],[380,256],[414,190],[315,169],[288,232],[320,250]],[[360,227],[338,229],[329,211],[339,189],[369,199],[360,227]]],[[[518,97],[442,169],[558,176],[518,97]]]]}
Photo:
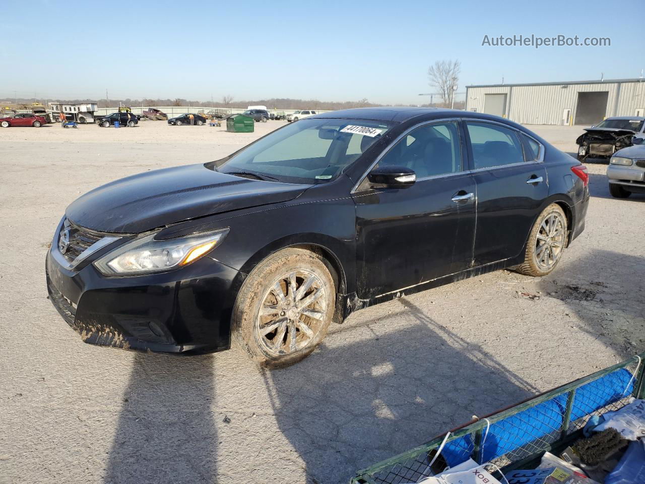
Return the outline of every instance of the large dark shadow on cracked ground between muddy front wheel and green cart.
{"type": "Polygon", "coordinates": [[[357,469],[466,423],[473,414],[538,392],[409,299],[399,303],[397,314],[342,328],[342,339],[352,332],[363,339],[323,345],[313,358],[264,372],[279,428],[305,462],[306,482],[346,482],[357,469]],[[389,318],[413,323],[388,331],[389,318]]]}

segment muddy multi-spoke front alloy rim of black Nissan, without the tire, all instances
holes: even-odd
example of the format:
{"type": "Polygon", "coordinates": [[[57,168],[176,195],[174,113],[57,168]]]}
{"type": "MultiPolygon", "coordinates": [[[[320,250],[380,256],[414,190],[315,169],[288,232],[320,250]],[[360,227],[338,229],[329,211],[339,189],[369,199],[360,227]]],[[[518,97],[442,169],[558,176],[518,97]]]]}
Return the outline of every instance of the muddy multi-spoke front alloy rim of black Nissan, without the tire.
{"type": "Polygon", "coordinates": [[[326,307],[327,294],[320,277],[308,270],[288,272],[264,294],[256,336],[269,354],[292,354],[315,338],[326,307]]]}

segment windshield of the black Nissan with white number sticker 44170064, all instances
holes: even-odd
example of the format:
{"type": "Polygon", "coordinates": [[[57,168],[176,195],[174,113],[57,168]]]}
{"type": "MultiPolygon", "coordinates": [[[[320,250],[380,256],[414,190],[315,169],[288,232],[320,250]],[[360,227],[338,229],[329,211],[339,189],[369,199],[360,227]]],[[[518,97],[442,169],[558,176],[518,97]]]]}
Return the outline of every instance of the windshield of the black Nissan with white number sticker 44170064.
{"type": "Polygon", "coordinates": [[[302,119],[259,139],[217,166],[286,183],[324,183],[337,177],[392,127],[364,119],[302,119]]]}

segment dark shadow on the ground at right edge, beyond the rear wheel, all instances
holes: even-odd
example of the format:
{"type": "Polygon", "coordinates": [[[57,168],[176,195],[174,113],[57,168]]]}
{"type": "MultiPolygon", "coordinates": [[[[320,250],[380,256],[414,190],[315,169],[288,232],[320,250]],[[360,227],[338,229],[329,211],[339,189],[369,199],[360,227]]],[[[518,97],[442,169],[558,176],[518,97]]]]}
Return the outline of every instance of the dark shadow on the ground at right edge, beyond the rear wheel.
{"type": "Polygon", "coordinates": [[[645,350],[645,257],[591,250],[539,282],[541,294],[566,303],[581,330],[622,359],[645,350]]]}

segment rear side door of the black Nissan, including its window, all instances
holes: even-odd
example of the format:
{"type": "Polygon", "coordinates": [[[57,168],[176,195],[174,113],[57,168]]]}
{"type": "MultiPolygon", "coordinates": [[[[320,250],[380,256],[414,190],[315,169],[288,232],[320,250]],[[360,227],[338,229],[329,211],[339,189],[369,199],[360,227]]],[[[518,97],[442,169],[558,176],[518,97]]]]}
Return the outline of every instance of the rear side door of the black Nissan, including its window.
{"type": "MultiPolygon", "coordinates": [[[[519,255],[548,196],[546,170],[537,156],[524,155],[522,137],[508,125],[466,121],[472,174],[477,185],[474,265],[519,255]]],[[[528,151],[528,150],[527,150],[528,151]]]]}

